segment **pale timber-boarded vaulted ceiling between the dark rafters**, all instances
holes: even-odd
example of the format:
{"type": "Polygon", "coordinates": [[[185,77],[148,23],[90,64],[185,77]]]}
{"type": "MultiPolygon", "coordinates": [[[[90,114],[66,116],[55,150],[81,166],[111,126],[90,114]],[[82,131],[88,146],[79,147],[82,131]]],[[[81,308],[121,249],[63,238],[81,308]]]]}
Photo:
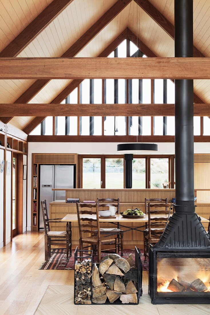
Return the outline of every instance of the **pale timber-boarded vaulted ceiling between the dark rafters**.
{"type": "MultiPolygon", "coordinates": [[[[57,1],[57,0],[54,0],[57,1]]],[[[49,5],[52,0],[0,0],[0,51],[3,51],[31,21],[49,5]]],[[[67,2],[67,1],[66,1],[67,2]]],[[[101,18],[113,5],[122,6],[121,0],[73,0],[22,50],[17,57],[59,57],[62,56],[97,21],[99,32],[84,48],[74,54],[76,57],[96,57],[127,27],[138,34],[156,56],[173,57],[174,40],[167,32],[167,23],[174,25],[173,0],[149,0],[153,9],[159,12],[154,20],[151,14],[141,8],[142,1],[126,0],[125,7],[116,17],[105,23],[101,18]],[[121,2],[121,3],[120,3],[121,2]],[[117,4],[118,3],[118,4],[117,4]],[[161,15],[163,19],[161,19],[161,15]],[[158,21],[158,16],[160,20],[158,21]],[[162,22],[161,22],[162,21],[162,22]],[[169,22],[167,22],[169,21],[169,22]],[[162,25],[161,25],[162,23],[162,25]]],[[[148,1],[143,1],[148,5],[148,1]]],[[[204,55],[210,56],[210,2],[194,0],[194,46],[204,55]]],[[[151,7],[151,6],[150,6],[151,7]]],[[[113,10],[112,10],[113,12],[113,10]]],[[[173,26],[172,26],[173,27],[173,26]]],[[[87,32],[88,34],[88,32],[87,32]]],[[[86,35],[87,35],[86,34],[86,35]]],[[[85,35],[85,36],[86,36],[85,35]]],[[[134,36],[134,35],[133,35],[134,36]]],[[[77,42],[78,43],[78,42],[77,42]]],[[[6,55],[5,55],[6,57],[6,55]]],[[[0,80],[0,103],[15,103],[36,80],[0,80]]],[[[50,103],[72,80],[50,80],[38,93],[33,93],[29,103],[50,103]]],[[[36,91],[37,92],[37,91],[36,91]]],[[[203,102],[210,103],[209,80],[194,80],[194,92],[203,102]]],[[[11,113],[12,116],[12,113],[11,113]]],[[[10,123],[24,129],[34,117],[13,117],[10,123]]]]}

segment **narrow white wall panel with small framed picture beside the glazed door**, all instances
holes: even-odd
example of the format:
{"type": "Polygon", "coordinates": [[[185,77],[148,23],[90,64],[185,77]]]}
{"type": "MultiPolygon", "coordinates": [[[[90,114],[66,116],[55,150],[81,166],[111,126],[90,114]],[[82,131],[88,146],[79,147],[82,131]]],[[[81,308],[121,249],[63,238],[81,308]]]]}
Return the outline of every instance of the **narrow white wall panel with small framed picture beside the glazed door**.
{"type": "MultiPolygon", "coordinates": [[[[11,152],[7,151],[7,161],[11,161],[11,152]]],[[[5,172],[7,169],[7,163],[5,163],[5,172]]],[[[12,163],[11,163],[12,172],[12,163]]],[[[6,175],[6,244],[11,241],[11,174],[6,175]]]]}

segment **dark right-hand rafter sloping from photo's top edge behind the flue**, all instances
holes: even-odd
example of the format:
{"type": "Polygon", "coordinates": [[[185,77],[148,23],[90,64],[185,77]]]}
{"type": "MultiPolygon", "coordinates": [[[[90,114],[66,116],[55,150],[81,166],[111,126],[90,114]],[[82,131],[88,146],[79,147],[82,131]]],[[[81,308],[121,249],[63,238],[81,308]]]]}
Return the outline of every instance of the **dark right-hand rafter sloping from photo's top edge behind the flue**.
{"type": "MultiPolygon", "coordinates": [[[[148,0],[134,0],[167,34],[174,39],[174,26],[167,18],[158,11],[148,0]]],[[[205,57],[195,46],[193,46],[193,57],[205,57]]]]}

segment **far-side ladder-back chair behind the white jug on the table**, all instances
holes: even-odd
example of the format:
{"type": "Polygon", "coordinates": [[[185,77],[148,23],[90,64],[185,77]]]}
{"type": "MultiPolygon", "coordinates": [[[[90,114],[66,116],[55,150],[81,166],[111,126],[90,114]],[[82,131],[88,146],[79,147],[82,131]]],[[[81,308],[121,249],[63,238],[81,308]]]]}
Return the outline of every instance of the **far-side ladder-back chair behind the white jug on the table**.
{"type": "MultiPolygon", "coordinates": [[[[116,214],[119,214],[119,209],[120,209],[120,198],[118,199],[113,199],[113,198],[102,198],[99,199],[97,198],[97,203],[99,207],[99,211],[103,211],[103,209],[100,208],[106,208],[106,207],[116,207],[116,214]]],[[[104,209],[106,210],[106,209],[104,209]]],[[[100,233],[103,234],[114,234],[117,235],[118,239],[118,246],[117,246],[117,251],[119,253],[119,246],[121,249],[121,256],[123,256],[123,230],[119,228],[119,222],[117,222],[117,227],[101,227],[100,228],[100,233]],[[119,232],[118,234],[116,234],[119,232]]]]}

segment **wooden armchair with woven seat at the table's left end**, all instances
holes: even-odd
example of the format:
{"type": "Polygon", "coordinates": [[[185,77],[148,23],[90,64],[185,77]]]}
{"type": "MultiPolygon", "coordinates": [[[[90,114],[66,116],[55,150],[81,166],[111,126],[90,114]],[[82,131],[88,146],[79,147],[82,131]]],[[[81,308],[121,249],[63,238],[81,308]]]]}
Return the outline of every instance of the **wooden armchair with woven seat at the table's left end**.
{"type": "Polygon", "coordinates": [[[58,219],[49,219],[48,210],[47,210],[47,202],[46,199],[41,201],[42,206],[42,214],[44,221],[44,257],[45,260],[48,261],[51,254],[54,253],[56,249],[63,248],[53,248],[53,252],[51,252],[51,245],[65,245],[66,246],[66,258],[69,259],[69,254],[71,257],[71,233],[69,235],[64,231],[50,231],[49,223],[59,223],[62,218],[58,219]]]}

